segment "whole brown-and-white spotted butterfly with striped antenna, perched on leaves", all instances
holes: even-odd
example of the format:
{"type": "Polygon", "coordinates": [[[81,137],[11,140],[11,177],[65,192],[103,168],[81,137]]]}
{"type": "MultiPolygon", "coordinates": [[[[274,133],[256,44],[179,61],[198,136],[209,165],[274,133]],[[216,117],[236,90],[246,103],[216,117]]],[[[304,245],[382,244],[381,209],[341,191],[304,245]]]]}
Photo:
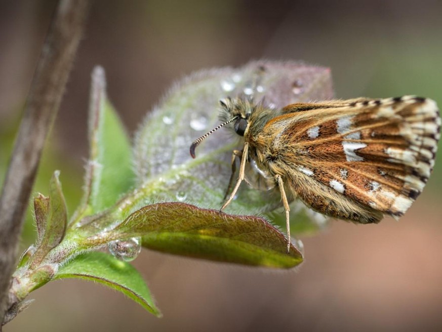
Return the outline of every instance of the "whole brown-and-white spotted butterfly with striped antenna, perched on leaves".
{"type": "MultiPolygon", "coordinates": [[[[434,166],[440,116],[428,98],[404,96],[294,103],[280,109],[247,98],[220,101],[222,123],[196,139],[230,127],[242,137],[238,178],[221,207],[231,203],[253,162],[278,188],[290,248],[290,206],[300,199],[324,215],[354,223],[399,218],[422,192],[434,166]]],[[[228,188],[232,186],[232,177],[228,188]]],[[[228,191],[229,191],[228,189],[228,191]]]]}

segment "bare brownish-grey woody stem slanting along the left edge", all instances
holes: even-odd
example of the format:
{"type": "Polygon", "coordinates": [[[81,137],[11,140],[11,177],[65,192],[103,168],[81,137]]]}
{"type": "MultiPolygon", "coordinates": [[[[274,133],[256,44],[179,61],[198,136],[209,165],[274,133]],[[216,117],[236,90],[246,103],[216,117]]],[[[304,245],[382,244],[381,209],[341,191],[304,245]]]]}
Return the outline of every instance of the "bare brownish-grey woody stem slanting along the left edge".
{"type": "Polygon", "coordinates": [[[0,197],[0,322],[4,321],[11,305],[8,290],[30,191],[83,34],[88,9],[87,0],[58,3],[28,93],[0,197]]]}

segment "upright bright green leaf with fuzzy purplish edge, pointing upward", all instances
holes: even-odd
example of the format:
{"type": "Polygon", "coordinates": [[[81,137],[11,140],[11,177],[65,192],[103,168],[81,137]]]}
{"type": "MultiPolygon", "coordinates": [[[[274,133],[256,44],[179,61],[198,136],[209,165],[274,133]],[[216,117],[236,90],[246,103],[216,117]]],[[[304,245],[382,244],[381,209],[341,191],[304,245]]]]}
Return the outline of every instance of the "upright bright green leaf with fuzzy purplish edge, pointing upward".
{"type": "Polygon", "coordinates": [[[101,67],[96,67],[92,75],[89,141],[85,195],[72,218],[74,221],[115,204],[133,187],[135,180],[130,139],[106,97],[106,79],[101,67]]]}

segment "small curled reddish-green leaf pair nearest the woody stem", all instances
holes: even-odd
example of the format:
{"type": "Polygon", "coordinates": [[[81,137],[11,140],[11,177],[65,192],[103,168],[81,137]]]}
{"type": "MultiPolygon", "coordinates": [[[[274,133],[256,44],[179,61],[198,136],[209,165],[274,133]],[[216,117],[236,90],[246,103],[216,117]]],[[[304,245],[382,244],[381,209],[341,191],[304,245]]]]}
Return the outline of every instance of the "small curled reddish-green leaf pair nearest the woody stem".
{"type": "Polygon", "coordinates": [[[55,248],[63,239],[67,224],[66,202],[64,200],[61,183],[58,179],[59,171],[55,171],[49,186],[49,207],[47,199],[36,199],[36,219],[38,236],[35,253],[31,257],[31,266],[35,267],[42,262],[46,254],[55,248]]]}

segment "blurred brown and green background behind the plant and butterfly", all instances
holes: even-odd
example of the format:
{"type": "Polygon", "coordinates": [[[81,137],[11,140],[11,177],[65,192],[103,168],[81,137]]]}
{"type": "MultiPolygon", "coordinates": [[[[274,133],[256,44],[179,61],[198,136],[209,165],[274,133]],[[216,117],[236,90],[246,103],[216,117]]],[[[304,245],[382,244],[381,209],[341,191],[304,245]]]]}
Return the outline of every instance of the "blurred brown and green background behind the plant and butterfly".
{"type": "MultiPolygon", "coordinates": [[[[0,181],[55,4],[0,2],[0,181]]],[[[78,201],[96,64],[131,133],[175,80],[259,58],[329,66],[339,98],[417,94],[442,105],[440,14],[438,0],[97,0],[35,190],[47,193],[60,169],[70,211],[78,201]]],[[[29,224],[23,246],[32,232],[29,224]]],[[[5,331],[442,330],[442,160],[400,222],[336,221],[302,240],[306,261],[286,272],[144,250],[134,265],[164,318],[64,280],[32,293],[37,301],[5,331]]]]}

